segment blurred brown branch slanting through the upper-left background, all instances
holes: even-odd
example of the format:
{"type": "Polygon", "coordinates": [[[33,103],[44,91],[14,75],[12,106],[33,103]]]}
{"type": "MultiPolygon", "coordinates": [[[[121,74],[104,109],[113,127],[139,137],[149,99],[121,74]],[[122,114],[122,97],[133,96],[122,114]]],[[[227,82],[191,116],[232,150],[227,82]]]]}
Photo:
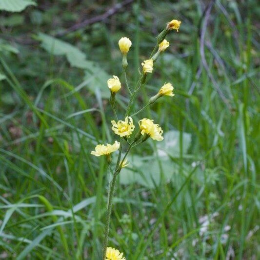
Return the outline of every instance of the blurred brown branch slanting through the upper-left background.
{"type": "Polygon", "coordinates": [[[105,20],[107,19],[108,17],[116,14],[122,7],[130,4],[131,2],[133,2],[134,0],[124,0],[122,1],[121,3],[117,3],[115,4],[114,6],[112,6],[111,8],[109,8],[105,13],[103,13],[102,15],[98,15],[98,16],[95,16],[95,17],[92,17],[92,18],[89,18],[89,19],[86,19],[86,20],[83,20],[82,22],[80,23],[77,23],[71,27],[69,27],[68,29],[65,29],[65,31],[63,32],[60,32],[60,33],[57,33],[56,36],[62,36],[62,35],[65,35],[67,33],[70,33],[70,32],[74,32],[74,31],[77,31],[78,29],[80,28],[83,28],[85,27],[86,25],[89,25],[89,24],[93,24],[95,22],[99,22],[99,21],[102,21],[102,20],[105,20]]]}

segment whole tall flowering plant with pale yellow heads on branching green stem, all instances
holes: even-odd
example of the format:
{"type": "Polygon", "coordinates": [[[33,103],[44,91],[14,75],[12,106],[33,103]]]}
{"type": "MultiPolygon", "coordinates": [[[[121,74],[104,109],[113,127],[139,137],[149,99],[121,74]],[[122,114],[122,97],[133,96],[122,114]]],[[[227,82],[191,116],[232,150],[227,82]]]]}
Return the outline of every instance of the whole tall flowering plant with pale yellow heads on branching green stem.
{"type": "Polygon", "coordinates": [[[140,73],[139,80],[137,81],[137,84],[134,88],[134,90],[131,90],[131,88],[128,85],[127,76],[126,76],[126,69],[128,66],[127,62],[127,54],[129,52],[129,49],[132,45],[131,40],[129,40],[126,37],[123,37],[119,40],[119,48],[122,53],[122,68],[123,68],[123,75],[125,80],[126,88],[130,95],[130,100],[127,105],[127,109],[125,111],[124,120],[119,120],[115,108],[115,102],[116,102],[116,94],[121,89],[121,82],[117,76],[113,76],[112,79],[107,80],[108,88],[110,89],[110,104],[112,107],[112,110],[114,112],[115,118],[117,121],[112,120],[112,130],[115,132],[116,135],[120,136],[119,141],[115,141],[114,144],[98,144],[95,147],[95,151],[92,151],[91,154],[95,156],[101,156],[105,155],[109,169],[111,170],[111,153],[119,150],[118,159],[116,163],[116,167],[113,171],[113,179],[109,183],[109,192],[108,192],[108,203],[107,203],[107,213],[106,213],[106,223],[105,223],[105,234],[104,234],[104,242],[103,242],[103,251],[102,251],[102,260],[125,260],[123,257],[123,254],[119,252],[119,250],[114,249],[112,247],[107,247],[108,243],[108,235],[109,235],[109,224],[110,224],[110,217],[111,217],[111,210],[112,210],[112,200],[114,196],[114,190],[115,190],[115,183],[117,179],[117,175],[120,174],[120,171],[123,167],[127,166],[127,155],[130,151],[130,149],[134,148],[135,146],[141,144],[148,138],[151,138],[153,140],[161,141],[163,140],[162,137],[162,129],[159,124],[155,124],[153,120],[144,118],[139,121],[139,131],[135,135],[134,138],[132,138],[133,132],[136,128],[136,126],[133,123],[133,117],[139,114],[144,108],[147,106],[153,104],[162,96],[170,96],[173,97],[173,86],[171,83],[165,83],[159,90],[159,92],[150,98],[149,102],[142,107],[139,111],[135,112],[132,115],[129,115],[131,112],[131,108],[134,104],[135,98],[140,91],[141,87],[146,82],[146,78],[148,73],[153,72],[153,65],[154,62],[158,59],[160,56],[160,53],[165,51],[169,47],[169,42],[165,40],[165,37],[167,33],[171,30],[177,30],[179,31],[180,27],[180,21],[179,20],[171,20],[168,22],[164,28],[164,30],[158,35],[157,37],[157,43],[154,47],[150,57],[148,60],[144,60],[142,65],[142,72],[140,73]],[[122,156],[122,150],[124,143],[127,144],[127,150],[121,160],[122,156]]]}

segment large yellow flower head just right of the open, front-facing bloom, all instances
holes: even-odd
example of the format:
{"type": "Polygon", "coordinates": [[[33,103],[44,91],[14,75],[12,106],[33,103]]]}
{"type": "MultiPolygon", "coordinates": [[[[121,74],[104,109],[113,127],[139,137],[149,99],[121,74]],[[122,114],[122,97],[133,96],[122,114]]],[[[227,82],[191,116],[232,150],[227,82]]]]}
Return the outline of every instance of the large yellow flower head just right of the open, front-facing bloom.
{"type": "Polygon", "coordinates": [[[153,120],[144,118],[139,121],[141,134],[149,135],[153,140],[161,141],[163,137],[161,136],[163,131],[159,124],[154,124],[153,120]]]}

